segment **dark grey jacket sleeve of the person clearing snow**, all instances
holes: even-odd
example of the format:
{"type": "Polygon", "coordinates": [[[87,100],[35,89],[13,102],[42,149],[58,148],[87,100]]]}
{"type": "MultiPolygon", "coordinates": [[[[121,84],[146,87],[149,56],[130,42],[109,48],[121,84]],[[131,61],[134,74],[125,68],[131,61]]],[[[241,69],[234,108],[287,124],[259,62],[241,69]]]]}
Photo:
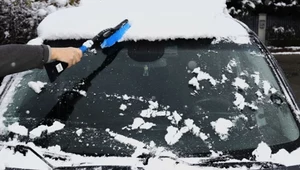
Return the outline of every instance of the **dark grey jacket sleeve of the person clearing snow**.
{"type": "Polygon", "coordinates": [[[0,77],[34,68],[43,68],[49,61],[47,45],[9,44],[0,46],[0,77]]]}

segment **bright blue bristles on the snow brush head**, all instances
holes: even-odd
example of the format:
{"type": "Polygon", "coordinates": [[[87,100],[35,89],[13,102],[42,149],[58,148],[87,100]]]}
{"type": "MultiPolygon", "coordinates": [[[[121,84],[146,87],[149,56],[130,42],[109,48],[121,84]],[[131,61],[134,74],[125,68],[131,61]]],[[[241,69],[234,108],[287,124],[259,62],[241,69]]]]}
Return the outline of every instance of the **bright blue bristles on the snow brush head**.
{"type": "Polygon", "coordinates": [[[106,47],[111,47],[113,46],[116,42],[118,42],[125,32],[130,28],[130,24],[126,23],[123,27],[121,27],[118,31],[116,31],[113,35],[108,37],[103,41],[101,44],[101,48],[106,48],[106,47]]]}

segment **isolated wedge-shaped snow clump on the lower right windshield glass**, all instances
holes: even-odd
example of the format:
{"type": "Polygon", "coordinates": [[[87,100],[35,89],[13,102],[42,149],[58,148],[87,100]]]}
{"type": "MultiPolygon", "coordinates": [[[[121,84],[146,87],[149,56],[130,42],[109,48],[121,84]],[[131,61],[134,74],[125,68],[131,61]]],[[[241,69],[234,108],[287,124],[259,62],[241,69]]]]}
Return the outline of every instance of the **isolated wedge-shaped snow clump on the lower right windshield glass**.
{"type": "Polygon", "coordinates": [[[224,118],[219,118],[217,121],[213,121],[210,124],[222,140],[228,138],[228,132],[234,125],[230,120],[224,118]]]}

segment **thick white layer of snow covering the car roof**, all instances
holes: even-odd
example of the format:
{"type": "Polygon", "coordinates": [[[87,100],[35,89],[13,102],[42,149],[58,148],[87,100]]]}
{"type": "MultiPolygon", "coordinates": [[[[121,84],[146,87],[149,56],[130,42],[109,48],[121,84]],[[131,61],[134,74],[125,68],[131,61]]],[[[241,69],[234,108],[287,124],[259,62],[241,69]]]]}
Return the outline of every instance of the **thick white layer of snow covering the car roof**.
{"type": "Polygon", "coordinates": [[[38,27],[43,40],[89,39],[128,19],[123,40],[223,38],[248,43],[247,31],[228,14],[225,0],[99,0],[48,15],[38,27]]]}

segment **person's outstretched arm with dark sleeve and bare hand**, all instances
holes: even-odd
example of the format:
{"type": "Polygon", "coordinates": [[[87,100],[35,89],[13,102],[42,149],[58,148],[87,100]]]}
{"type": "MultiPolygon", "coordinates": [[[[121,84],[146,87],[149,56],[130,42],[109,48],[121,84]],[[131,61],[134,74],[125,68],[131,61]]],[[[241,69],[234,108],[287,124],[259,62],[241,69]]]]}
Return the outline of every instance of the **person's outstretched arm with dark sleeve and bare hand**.
{"type": "Polygon", "coordinates": [[[0,77],[34,68],[52,60],[69,64],[80,61],[82,52],[77,48],[50,48],[47,45],[10,44],[0,46],[0,77]]]}

